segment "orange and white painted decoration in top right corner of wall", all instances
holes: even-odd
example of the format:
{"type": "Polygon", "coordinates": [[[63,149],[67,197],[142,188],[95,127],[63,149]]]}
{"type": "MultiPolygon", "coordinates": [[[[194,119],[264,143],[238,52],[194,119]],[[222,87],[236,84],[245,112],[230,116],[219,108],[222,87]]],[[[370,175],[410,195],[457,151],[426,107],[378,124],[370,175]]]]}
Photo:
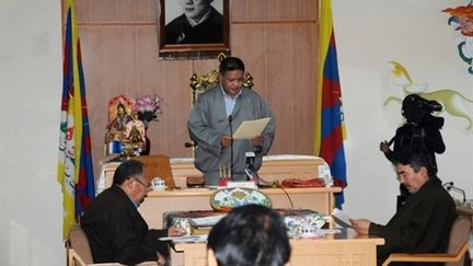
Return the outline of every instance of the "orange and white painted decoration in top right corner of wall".
{"type": "Polygon", "coordinates": [[[442,12],[451,16],[448,24],[455,31],[454,42],[457,44],[460,58],[466,63],[460,74],[464,77],[473,76],[473,5],[472,1],[468,5],[448,8],[442,12]]]}

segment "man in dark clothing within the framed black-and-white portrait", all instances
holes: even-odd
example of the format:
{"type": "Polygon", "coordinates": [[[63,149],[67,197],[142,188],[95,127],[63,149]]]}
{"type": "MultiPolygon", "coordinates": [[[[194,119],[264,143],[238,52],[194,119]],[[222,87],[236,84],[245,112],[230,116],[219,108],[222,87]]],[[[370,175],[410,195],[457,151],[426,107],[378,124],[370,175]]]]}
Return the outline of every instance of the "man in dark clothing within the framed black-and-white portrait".
{"type": "Polygon", "coordinates": [[[166,44],[223,43],[223,16],[212,1],[180,0],[184,13],[165,26],[166,44]]]}

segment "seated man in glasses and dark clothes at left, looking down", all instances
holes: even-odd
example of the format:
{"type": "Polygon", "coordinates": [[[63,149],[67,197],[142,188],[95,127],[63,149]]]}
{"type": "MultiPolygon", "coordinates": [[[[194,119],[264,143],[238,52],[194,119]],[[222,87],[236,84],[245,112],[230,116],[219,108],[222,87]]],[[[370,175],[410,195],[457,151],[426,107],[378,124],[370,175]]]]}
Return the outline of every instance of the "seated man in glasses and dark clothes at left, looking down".
{"type": "MultiPolygon", "coordinates": [[[[126,161],[115,171],[113,185],[85,208],[81,227],[94,263],[165,263],[169,247],[158,240],[166,235],[165,230],[149,230],[137,209],[148,194],[148,186],[143,164],[126,161]]],[[[168,233],[177,234],[178,230],[170,228],[168,233]]]]}

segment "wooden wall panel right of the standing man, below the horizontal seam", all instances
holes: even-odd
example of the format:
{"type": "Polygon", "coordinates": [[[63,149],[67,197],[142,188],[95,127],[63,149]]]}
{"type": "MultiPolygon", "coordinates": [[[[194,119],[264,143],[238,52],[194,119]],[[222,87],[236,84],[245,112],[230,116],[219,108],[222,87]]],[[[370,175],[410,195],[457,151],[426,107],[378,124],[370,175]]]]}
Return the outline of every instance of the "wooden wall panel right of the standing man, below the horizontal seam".
{"type": "Polygon", "coordinates": [[[233,54],[255,77],[254,90],[272,106],[277,136],[272,152],[313,151],[316,57],[312,24],[233,25],[233,54]]]}

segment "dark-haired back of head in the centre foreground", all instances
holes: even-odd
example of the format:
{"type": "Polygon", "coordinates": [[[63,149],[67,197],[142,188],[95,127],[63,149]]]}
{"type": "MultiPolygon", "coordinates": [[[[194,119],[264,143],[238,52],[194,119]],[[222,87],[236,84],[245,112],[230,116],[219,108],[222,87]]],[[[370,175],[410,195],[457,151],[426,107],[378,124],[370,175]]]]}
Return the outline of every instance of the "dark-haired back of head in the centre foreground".
{"type": "Polygon", "coordinates": [[[281,266],[291,252],[281,217],[261,205],[232,209],[211,229],[207,248],[219,266],[281,266]]]}

